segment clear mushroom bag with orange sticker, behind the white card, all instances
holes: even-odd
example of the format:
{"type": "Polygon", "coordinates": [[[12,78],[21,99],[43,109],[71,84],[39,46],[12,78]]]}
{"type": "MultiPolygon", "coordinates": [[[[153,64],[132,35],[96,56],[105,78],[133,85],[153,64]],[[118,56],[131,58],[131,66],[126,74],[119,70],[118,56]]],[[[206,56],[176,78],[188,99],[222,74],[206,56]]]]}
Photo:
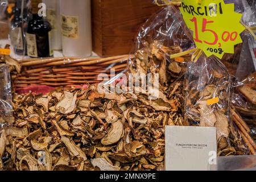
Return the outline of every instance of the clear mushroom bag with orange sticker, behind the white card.
{"type": "Polygon", "coordinates": [[[188,65],[185,76],[185,125],[216,127],[218,156],[247,154],[230,120],[231,77],[224,64],[203,53],[188,65]]]}

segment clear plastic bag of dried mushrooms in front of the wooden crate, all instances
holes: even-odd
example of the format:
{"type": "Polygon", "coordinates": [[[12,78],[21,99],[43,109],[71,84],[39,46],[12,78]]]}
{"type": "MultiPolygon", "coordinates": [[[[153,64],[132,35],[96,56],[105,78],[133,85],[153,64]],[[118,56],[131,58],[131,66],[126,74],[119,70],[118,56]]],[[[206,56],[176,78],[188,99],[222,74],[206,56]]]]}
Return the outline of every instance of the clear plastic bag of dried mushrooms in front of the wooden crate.
{"type": "Polygon", "coordinates": [[[135,41],[131,73],[158,73],[163,90],[184,76],[191,55],[171,59],[170,55],[195,47],[184,20],[175,6],[166,6],[143,24],[135,41]],[[164,88],[166,87],[166,88],[164,88]]]}

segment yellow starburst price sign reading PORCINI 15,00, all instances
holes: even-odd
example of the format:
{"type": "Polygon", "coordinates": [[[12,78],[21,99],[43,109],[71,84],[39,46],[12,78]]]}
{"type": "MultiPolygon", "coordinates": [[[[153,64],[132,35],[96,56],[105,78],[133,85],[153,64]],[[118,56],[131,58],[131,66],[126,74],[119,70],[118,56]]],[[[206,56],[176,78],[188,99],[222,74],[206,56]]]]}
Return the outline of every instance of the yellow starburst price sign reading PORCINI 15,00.
{"type": "Polygon", "coordinates": [[[234,3],[223,0],[182,0],[181,14],[188,28],[193,31],[196,46],[209,57],[220,59],[224,53],[234,53],[234,45],[242,42],[240,34],[245,27],[242,14],[234,11],[234,3]]]}

